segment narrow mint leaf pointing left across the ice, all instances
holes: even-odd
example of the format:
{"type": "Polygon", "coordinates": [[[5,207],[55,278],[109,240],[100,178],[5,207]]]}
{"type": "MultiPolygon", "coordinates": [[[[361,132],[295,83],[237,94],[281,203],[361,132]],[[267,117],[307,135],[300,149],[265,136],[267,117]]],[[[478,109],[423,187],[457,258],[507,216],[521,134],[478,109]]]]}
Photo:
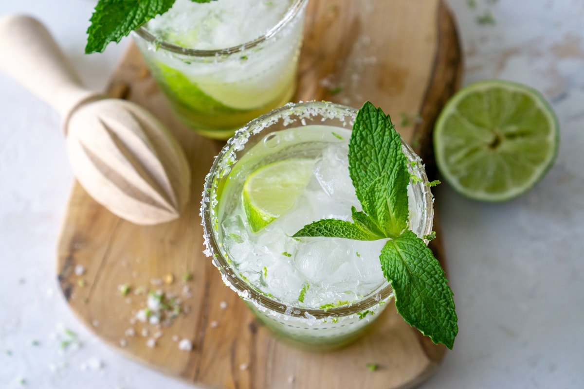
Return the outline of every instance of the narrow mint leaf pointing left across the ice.
{"type": "Polygon", "coordinates": [[[324,236],[328,238],[346,238],[354,240],[377,240],[383,236],[371,233],[351,222],[337,219],[321,219],[304,226],[293,237],[324,236]]]}

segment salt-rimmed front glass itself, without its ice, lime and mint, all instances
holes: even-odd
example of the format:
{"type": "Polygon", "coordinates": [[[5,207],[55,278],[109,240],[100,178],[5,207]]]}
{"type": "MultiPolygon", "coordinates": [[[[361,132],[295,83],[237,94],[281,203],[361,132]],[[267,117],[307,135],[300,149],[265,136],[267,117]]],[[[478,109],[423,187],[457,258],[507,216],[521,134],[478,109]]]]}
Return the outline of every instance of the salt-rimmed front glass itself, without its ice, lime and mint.
{"type": "MultiPolygon", "coordinates": [[[[282,339],[314,350],[339,348],[363,335],[393,296],[390,283],[383,279],[376,288],[345,304],[305,308],[298,302],[284,303],[273,295],[262,293],[260,285],[253,285],[241,274],[236,265],[239,259],[233,253],[227,253],[225,242],[230,237],[223,226],[227,209],[241,206],[242,185],[250,173],[277,160],[318,157],[323,145],[339,142],[342,138],[340,131],[352,128],[356,113],[354,108],[324,101],[287,104],[273,110],[241,128],[227,142],[215,159],[204,186],[201,215],[207,246],[205,253],[212,257],[225,285],[238,293],[258,319],[282,339]],[[330,126],[326,128],[331,136],[323,138],[321,126],[330,126]],[[294,128],[297,136],[287,141],[290,136],[286,134],[294,128]]],[[[419,157],[404,141],[402,150],[412,162],[411,174],[419,178],[408,187],[410,227],[423,237],[432,232],[433,197],[426,185],[427,177],[419,157]]],[[[313,221],[306,220],[305,223],[313,221]]],[[[348,244],[357,242],[346,241],[348,244]]],[[[281,260],[288,259],[281,257],[281,260]]],[[[370,260],[379,265],[378,255],[370,260]]],[[[359,275],[354,274],[354,277],[359,275]]]]}

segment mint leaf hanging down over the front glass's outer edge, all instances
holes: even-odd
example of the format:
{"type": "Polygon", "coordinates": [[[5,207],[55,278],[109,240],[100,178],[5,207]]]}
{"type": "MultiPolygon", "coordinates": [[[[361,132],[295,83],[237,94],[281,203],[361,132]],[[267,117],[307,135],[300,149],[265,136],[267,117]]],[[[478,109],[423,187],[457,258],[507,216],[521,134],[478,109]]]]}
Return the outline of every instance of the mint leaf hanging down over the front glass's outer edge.
{"type": "Polygon", "coordinates": [[[394,289],[398,313],[434,343],[452,349],[458,333],[453,293],[432,250],[416,234],[406,231],[387,241],[380,261],[394,289]]]}

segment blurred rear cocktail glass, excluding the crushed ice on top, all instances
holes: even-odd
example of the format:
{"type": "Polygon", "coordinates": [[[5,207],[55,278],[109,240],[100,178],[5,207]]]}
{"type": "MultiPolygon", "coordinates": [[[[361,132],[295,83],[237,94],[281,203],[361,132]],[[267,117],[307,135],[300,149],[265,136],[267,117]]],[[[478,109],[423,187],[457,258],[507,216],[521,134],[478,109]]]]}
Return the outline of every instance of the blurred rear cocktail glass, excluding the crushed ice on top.
{"type": "Polygon", "coordinates": [[[291,0],[267,33],[235,47],[182,47],[155,36],[148,24],[133,38],[180,120],[201,135],[227,139],[293,96],[307,3],[291,0]]]}

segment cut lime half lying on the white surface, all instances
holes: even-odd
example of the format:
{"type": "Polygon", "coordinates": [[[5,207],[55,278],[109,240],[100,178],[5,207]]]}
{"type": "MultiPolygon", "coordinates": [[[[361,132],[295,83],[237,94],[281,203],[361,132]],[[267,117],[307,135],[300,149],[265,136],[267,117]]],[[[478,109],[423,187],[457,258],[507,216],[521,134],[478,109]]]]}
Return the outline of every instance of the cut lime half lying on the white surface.
{"type": "Polygon", "coordinates": [[[468,85],[444,106],[434,154],[444,179],[481,201],[515,198],[543,178],[558,152],[558,119],[537,90],[515,82],[468,85]]]}

